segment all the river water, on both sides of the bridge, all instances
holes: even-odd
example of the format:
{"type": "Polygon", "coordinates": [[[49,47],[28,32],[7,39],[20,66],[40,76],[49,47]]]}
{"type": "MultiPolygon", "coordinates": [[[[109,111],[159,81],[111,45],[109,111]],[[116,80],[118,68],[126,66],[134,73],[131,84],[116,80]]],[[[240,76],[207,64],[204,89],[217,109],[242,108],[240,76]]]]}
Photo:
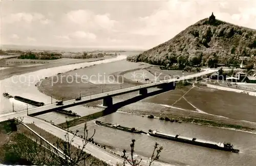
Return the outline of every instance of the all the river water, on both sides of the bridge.
{"type": "MultiPolygon", "coordinates": [[[[38,80],[40,80],[40,78],[50,77],[56,75],[57,73],[67,72],[74,68],[90,66],[93,64],[108,63],[116,60],[121,60],[124,58],[125,56],[118,56],[114,59],[42,69],[38,70],[37,72],[25,74],[23,76],[11,77],[0,81],[0,92],[3,93],[6,90],[13,96],[23,96],[26,98],[35,99],[36,101],[44,102],[46,104],[51,103],[51,98],[39,92],[37,88],[34,86],[34,84],[38,80]],[[37,79],[31,81],[28,80],[29,77],[37,79]],[[24,83],[15,83],[17,81],[17,78],[23,79],[24,83]]],[[[130,62],[127,62],[125,64],[127,66],[122,67],[129,68],[129,65],[131,65],[130,62]]],[[[122,65],[125,64],[122,63],[122,65]]],[[[111,72],[113,72],[113,68],[110,67],[110,70],[111,72]]],[[[13,99],[3,98],[2,95],[0,98],[1,114],[11,112],[12,103],[14,104],[15,111],[24,110],[27,108],[27,105],[22,102],[18,102],[13,99]]],[[[33,106],[29,106],[29,108],[31,107],[33,106]]],[[[83,110],[79,110],[78,107],[79,106],[77,106],[78,112],[84,112],[84,109],[86,109],[86,113],[84,114],[99,111],[99,108],[83,107],[83,110]]],[[[144,104],[144,107],[149,108],[152,107],[152,105],[144,104]]],[[[59,115],[54,112],[40,115],[40,117],[46,118],[48,120],[51,119],[55,123],[61,123],[65,121],[65,116],[59,115]]],[[[143,131],[147,131],[148,129],[158,129],[159,131],[163,131],[166,133],[180,134],[183,136],[196,137],[205,140],[212,140],[217,142],[230,141],[234,145],[234,148],[240,149],[241,153],[235,154],[225,151],[203,148],[194,145],[187,145],[183,143],[177,143],[174,141],[151,137],[146,134],[132,134],[95,125],[94,121],[88,123],[89,132],[92,131],[92,129],[96,129],[96,134],[94,136],[94,139],[96,141],[105,145],[116,147],[119,151],[121,151],[122,149],[126,149],[129,151],[131,139],[136,139],[136,153],[143,155],[145,157],[150,157],[154,143],[157,141],[157,143],[164,147],[161,153],[160,160],[174,165],[254,166],[256,163],[256,134],[227,129],[204,127],[188,123],[170,123],[120,112],[100,117],[99,120],[109,123],[117,123],[127,127],[136,127],[142,129],[143,131]]],[[[72,129],[81,130],[82,126],[83,125],[81,124],[72,127],[72,129]]]]}

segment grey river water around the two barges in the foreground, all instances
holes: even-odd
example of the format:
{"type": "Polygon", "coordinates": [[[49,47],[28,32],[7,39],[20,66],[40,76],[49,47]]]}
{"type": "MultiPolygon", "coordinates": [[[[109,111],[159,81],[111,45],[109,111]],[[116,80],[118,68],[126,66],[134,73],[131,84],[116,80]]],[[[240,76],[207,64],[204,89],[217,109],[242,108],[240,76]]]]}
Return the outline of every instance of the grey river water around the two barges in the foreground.
{"type": "MultiPolygon", "coordinates": [[[[107,127],[98,126],[91,121],[88,123],[89,131],[96,129],[94,139],[99,143],[129,150],[131,139],[136,139],[135,151],[146,157],[150,157],[154,143],[157,141],[164,147],[160,159],[176,165],[255,165],[256,161],[256,134],[217,129],[187,123],[171,123],[148,119],[146,117],[113,113],[101,118],[99,121],[117,123],[126,127],[135,127],[147,131],[158,129],[159,131],[171,134],[180,134],[188,137],[196,137],[212,141],[230,141],[234,148],[240,149],[241,153],[231,153],[220,150],[204,148],[195,145],[178,143],[148,136],[146,134],[133,134],[107,127]],[[246,138],[246,139],[245,139],[246,138]]],[[[83,124],[73,127],[72,130],[82,131],[83,124]]]]}

